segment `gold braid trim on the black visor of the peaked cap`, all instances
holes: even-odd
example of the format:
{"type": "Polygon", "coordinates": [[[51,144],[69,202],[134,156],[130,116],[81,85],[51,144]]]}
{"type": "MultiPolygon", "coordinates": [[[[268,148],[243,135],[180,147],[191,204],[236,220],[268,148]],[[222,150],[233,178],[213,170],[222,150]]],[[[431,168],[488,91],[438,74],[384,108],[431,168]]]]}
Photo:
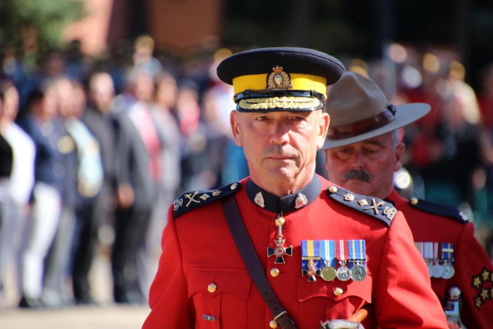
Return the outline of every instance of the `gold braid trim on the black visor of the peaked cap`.
{"type": "Polygon", "coordinates": [[[239,105],[243,109],[314,108],[320,105],[320,100],[313,97],[250,98],[240,100],[239,105]]]}

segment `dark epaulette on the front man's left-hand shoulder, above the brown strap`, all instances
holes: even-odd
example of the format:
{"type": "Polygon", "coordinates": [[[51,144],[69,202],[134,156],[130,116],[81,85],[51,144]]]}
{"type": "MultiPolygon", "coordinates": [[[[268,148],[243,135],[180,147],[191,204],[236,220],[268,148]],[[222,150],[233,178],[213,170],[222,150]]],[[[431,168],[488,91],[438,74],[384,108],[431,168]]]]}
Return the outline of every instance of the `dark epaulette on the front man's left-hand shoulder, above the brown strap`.
{"type": "Polygon", "coordinates": [[[176,217],[187,211],[216,202],[228,195],[234,194],[239,191],[240,188],[241,184],[236,182],[225,185],[217,190],[186,192],[173,202],[173,218],[176,219],[176,217]]]}

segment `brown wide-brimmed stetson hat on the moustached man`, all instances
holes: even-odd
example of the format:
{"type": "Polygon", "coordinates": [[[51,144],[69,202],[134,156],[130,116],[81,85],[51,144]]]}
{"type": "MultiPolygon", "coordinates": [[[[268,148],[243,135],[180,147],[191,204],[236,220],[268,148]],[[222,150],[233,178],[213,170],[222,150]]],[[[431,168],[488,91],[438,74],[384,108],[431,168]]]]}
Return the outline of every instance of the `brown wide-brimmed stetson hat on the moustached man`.
{"type": "Polygon", "coordinates": [[[326,111],[330,115],[329,131],[320,150],[391,132],[424,117],[430,111],[430,105],[410,103],[394,106],[373,80],[355,72],[346,72],[332,85],[326,111]]]}

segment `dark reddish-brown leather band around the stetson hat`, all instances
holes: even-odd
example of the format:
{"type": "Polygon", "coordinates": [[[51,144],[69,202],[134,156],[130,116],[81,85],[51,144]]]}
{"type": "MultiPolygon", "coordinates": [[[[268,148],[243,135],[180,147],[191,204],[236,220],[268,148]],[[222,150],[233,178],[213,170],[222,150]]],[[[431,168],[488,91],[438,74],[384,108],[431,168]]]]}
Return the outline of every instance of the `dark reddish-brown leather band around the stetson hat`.
{"type": "Polygon", "coordinates": [[[395,119],[396,112],[397,109],[395,106],[388,104],[385,111],[377,114],[376,116],[333,127],[329,125],[327,139],[349,138],[373,131],[393,121],[395,119]]]}

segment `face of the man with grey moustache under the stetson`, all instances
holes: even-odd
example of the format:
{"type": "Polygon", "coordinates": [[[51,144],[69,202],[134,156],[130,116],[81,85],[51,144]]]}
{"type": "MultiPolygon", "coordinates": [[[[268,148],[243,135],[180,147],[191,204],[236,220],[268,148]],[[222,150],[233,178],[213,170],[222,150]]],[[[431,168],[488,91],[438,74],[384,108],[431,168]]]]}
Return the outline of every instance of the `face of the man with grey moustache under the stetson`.
{"type": "Polygon", "coordinates": [[[402,167],[404,144],[394,147],[392,132],[325,151],[325,168],[335,184],[358,194],[385,198],[393,173],[402,167]]]}

